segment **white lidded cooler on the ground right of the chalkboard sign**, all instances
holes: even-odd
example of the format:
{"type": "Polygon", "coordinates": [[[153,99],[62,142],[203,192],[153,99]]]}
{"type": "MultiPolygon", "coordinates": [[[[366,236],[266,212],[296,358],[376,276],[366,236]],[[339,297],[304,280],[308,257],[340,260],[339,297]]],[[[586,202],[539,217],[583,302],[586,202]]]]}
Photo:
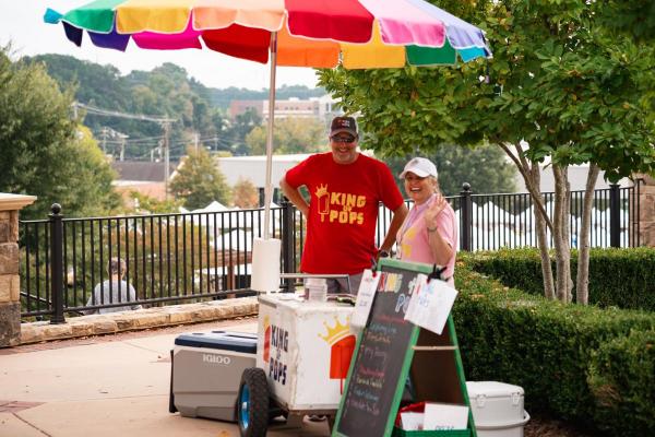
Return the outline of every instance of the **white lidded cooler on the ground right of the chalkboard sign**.
{"type": "Polygon", "coordinates": [[[478,437],[523,437],[529,414],[523,388],[496,381],[466,381],[478,437]]]}

